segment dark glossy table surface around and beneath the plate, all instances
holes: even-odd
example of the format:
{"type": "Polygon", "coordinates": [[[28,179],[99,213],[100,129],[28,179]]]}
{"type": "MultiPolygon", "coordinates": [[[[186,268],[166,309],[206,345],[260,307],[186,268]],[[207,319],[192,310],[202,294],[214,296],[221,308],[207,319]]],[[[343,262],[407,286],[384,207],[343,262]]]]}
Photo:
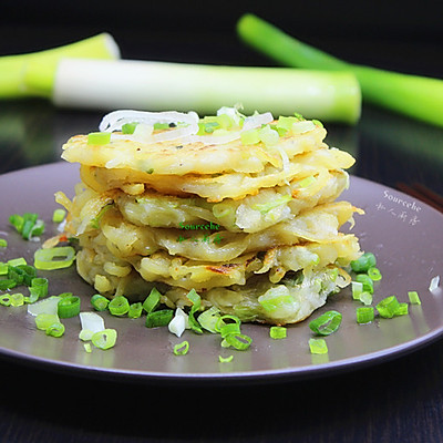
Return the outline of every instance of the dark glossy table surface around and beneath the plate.
{"type": "MultiPolygon", "coordinates": [[[[2,102],[0,173],[59,161],[62,143],[100,117],[43,100],[2,102]]],[[[443,130],[368,105],[357,126],[327,128],[330,145],[356,156],[352,174],[443,194],[443,130]]],[[[443,340],[346,373],[231,387],[89,379],[2,359],[0,442],[441,442],[442,373],[443,340]]]]}

